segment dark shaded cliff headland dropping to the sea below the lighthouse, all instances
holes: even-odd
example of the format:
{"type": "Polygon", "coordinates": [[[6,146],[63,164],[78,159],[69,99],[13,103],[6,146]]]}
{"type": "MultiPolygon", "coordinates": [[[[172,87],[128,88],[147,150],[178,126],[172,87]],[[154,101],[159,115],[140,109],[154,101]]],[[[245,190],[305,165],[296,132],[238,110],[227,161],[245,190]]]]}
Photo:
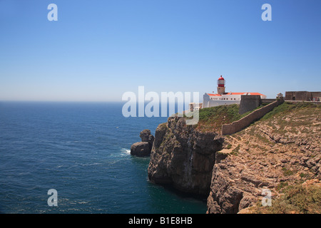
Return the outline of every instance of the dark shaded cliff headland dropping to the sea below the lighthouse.
{"type": "Polygon", "coordinates": [[[217,133],[200,133],[185,125],[184,118],[168,118],[156,129],[148,178],[183,192],[208,196],[215,152],[222,145],[223,138],[217,133]]]}

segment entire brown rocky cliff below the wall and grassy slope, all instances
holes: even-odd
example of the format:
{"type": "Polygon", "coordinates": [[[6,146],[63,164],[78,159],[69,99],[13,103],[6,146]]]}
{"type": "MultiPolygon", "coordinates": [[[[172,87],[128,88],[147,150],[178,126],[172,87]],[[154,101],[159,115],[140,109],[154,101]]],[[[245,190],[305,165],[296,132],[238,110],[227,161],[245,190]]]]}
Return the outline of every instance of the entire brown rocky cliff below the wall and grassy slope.
{"type": "MultiPolygon", "coordinates": [[[[320,106],[289,103],[225,137],[185,125],[184,118],[168,118],[156,130],[148,177],[183,192],[208,195],[207,213],[258,208],[265,189],[275,205],[287,187],[306,182],[320,187],[320,125],[320,106]]],[[[311,199],[317,204],[314,212],[321,209],[320,188],[317,191],[311,199]]],[[[300,208],[286,205],[282,212],[308,212],[310,205],[300,208]]]]}

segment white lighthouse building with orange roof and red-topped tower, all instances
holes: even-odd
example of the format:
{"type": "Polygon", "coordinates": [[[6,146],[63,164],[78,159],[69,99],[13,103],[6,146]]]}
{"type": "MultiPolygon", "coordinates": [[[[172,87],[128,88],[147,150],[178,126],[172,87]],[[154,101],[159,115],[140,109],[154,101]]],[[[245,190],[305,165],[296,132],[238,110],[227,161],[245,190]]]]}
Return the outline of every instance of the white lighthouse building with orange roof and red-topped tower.
{"type": "Polygon", "coordinates": [[[203,108],[240,104],[241,95],[260,95],[261,99],[266,99],[266,95],[262,93],[225,93],[225,79],[220,76],[218,78],[218,93],[205,93],[203,95],[203,108]]]}

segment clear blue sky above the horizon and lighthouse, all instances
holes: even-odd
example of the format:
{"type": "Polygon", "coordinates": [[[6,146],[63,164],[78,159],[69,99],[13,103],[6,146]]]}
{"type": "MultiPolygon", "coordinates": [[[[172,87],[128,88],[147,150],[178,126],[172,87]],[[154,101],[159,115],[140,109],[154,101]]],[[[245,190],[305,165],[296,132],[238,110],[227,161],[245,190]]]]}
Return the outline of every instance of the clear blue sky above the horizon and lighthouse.
{"type": "Polygon", "coordinates": [[[321,1],[0,0],[0,100],[203,95],[221,75],[228,92],[320,91],[321,1]]]}

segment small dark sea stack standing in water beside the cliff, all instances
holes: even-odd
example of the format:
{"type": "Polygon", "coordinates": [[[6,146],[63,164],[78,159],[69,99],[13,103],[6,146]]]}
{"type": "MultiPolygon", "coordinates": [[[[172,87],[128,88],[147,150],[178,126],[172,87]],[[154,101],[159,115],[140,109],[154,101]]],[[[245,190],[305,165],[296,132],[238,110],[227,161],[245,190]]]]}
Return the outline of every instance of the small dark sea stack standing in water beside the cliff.
{"type": "Polygon", "coordinates": [[[154,142],[154,136],[151,135],[151,130],[142,130],[139,137],[141,137],[141,142],[136,142],[131,145],[131,155],[137,157],[150,156],[154,142]]]}

